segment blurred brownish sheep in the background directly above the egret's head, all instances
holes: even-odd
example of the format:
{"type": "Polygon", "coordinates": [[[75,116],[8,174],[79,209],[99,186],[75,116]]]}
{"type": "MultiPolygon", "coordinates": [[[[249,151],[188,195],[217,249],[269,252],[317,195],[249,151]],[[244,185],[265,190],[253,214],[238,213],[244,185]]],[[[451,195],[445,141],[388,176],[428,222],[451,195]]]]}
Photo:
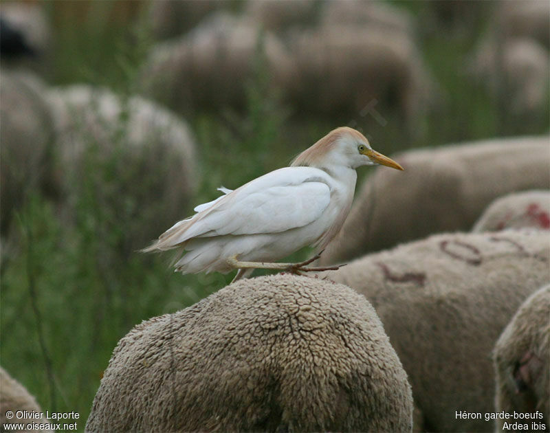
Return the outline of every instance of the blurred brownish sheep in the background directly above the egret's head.
{"type": "Polygon", "coordinates": [[[297,71],[287,98],[303,111],[364,117],[393,109],[412,126],[428,105],[430,78],[407,34],[335,24],[294,32],[289,49],[297,71]]]}

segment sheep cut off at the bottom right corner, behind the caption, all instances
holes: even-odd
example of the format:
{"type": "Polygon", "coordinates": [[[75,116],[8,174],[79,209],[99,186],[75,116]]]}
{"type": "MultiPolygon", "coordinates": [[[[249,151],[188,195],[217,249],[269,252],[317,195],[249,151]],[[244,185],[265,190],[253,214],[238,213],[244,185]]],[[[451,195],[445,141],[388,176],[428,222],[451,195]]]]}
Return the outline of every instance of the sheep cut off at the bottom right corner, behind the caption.
{"type": "MultiPolygon", "coordinates": [[[[521,421],[545,423],[550,430],[550,285],[533,293],[518,309],[494,346],[495,411],[536,414],[521,421]]],[[[502,432],[504,419],[496,421],[502,432]]],[[[514,421],[512,421],[513,423],[514,421]]]]}

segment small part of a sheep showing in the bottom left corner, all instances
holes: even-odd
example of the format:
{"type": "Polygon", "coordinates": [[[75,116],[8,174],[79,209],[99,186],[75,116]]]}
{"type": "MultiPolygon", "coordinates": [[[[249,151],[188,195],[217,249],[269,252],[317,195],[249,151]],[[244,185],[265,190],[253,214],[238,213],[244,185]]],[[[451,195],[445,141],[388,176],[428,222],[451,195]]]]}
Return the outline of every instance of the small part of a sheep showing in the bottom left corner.
{"type": "Polygon", "coordinates": [[[36,399],[2,367],[0,367],[0,426],[2,432],[16,430],[18,432],[53,432],[36,399]],[[12,417],[8,417],[6,414],[8,411],[12,411],[12,417]],[[19,417],[18,411],[26,411],[38,418],[19,417]],[[8,423],[11,423],[13,428],[8,428],[8,423]],[[25,427],[23,430],[19,430],[21,424],[25,427]]]}

